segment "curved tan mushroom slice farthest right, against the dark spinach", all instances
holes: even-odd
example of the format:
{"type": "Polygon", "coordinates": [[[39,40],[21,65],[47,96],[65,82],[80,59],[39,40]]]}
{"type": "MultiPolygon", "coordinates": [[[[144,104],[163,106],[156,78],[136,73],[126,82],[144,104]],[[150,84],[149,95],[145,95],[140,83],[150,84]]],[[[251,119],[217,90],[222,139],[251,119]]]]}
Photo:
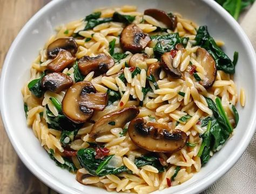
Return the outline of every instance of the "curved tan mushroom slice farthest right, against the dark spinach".
{"type": "Polygon", "coordinates": [[[204,48],[197,49],[197,61],[203,66],[206,71],[206,75],[204,79],[199,81],[201,85],[205,88],[212,87],[215,77],[217,75],[217,68],[215,65],[215,61],[212,56],[206,51],[204,48]]]}

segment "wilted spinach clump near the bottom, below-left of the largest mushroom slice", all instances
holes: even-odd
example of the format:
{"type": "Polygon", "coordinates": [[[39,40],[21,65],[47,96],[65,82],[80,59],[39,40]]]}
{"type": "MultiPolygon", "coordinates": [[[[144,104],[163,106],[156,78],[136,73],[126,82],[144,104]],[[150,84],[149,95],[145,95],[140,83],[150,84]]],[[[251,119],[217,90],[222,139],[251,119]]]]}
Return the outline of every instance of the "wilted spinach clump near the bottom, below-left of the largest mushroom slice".
{"type": "Polygon", "coordinates": [[[106,156],[103,160],[95,159],[95,156],[96,152],[93,148],[79,149],[77,152],[79,162],[92,175],[105,176],[128,171],[125,166],[116,168],[108,164],[113,155],[106,156]]]}

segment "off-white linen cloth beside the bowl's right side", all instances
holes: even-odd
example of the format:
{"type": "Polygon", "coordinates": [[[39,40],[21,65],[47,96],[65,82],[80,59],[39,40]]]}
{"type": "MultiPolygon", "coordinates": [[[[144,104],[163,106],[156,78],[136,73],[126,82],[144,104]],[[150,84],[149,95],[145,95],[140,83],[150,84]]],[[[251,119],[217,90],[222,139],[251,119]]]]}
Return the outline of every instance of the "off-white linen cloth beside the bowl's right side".
{"type": "MultiPolygon", "coordinates": [[[[248,35],[256,51],[256,3],[243,13],[241,27],[248,35]]],[[[248,104],[247,104],[248,105],[248,104]]],[[[201,194],[256,193],[256,133],[245,153],[230,171],[201,194]]]]}

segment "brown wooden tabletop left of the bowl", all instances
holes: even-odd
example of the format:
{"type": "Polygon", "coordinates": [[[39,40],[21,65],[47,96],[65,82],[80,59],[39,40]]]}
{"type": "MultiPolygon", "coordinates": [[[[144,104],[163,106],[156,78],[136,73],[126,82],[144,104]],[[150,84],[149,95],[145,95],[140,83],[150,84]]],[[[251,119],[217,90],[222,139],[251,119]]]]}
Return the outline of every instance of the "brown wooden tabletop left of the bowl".
{"type": "MultiPolygon", "coordinates": [[[[50,0],[0,0],[0,72],[19,30],[50,0]]],[[[1,94],[3,95],[3,94],[1,94]]],[[[30,173],[17,156],[0,118],[0,193],[56,193],[30,173]]]]}

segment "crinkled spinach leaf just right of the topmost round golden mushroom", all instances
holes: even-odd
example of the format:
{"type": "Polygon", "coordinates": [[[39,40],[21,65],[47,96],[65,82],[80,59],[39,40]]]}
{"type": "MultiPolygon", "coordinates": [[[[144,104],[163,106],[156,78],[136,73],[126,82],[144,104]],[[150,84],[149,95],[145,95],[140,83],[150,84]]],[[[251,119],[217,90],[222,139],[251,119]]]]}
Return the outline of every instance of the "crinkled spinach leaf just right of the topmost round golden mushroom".
{"type": "Polygon", "coordinates": [[[165,52],[171,51],[171,49],[173,49],[178,43],[181,43],[181,39],[178,33],[167,35],[152,35],[151,39],[157,41],[153,51],[158,58],[165,52]]]}

